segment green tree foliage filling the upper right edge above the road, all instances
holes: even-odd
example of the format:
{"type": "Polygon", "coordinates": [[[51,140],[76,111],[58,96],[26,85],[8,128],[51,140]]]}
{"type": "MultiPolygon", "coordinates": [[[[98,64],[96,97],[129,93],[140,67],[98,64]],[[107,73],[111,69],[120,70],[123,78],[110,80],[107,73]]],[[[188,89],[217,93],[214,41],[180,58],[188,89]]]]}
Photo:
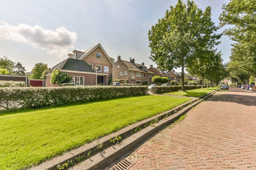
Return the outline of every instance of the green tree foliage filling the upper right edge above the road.
{"type": "Polygon", "coordinates": [[[246,83],[256,74],[256,1],[232,0],[223,5],[220,24],[233,25],[224,31],[232,45],[228,71],[233,82],[246,83]]]}

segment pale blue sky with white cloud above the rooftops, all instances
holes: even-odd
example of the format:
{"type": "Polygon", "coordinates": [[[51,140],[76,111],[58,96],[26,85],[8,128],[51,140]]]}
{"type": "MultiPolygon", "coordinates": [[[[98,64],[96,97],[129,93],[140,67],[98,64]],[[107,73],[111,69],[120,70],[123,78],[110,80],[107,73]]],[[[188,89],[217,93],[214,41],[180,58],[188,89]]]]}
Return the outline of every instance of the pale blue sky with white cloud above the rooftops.
{"type": "MultiPolygon", "coordinates": [[[[52,67],[72,50],[87,50],[100,43],[109,57],[154,64],[148,57],[148,30],[177,0],[1,0],[0,57],[21,62],[31,71],[37,62],[52,67]]],[[[212,8],[219,25],[221,6],[228,0],[195,0],[202,10],[212,8]]],[[[221,28],[218,32],[222,32],[221,28]]],[[[222,36],[218,50],[223,62],[232,41],[222,36]]],[[[177,70],[179,71],[179,69],[177,70]]]]}

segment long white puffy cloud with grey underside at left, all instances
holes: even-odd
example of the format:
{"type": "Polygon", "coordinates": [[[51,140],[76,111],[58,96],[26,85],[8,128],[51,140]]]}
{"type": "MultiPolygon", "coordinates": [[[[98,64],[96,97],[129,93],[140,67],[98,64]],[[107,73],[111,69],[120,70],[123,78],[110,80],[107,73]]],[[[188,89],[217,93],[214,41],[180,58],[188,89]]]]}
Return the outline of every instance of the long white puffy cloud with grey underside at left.
{"type": "Polygon", "coordinates": [[[76,32],[70,32],[65,27],[58,27],[56,31],[43,29],[39,25],[28,24],[10,25],[0,22],[0,39],[29,43],[35,48],[47,50],[51,55],[67,55],[74,48],[77,41],[76,32]]]}

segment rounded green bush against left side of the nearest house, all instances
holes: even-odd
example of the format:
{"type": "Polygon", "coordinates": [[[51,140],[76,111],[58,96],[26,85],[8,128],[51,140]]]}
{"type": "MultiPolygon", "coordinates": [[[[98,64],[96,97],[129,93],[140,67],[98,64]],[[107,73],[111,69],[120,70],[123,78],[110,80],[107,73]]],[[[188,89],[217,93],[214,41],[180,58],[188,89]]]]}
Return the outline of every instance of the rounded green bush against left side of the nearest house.
{"type": "Polygon", "coordinates": [[[69,76],[67,73],[60,72],[60,69],[52,71],[51,77],[51,83],[60,85],[61,83],[70,83],[71,82],[71,76],[69,76]]]}

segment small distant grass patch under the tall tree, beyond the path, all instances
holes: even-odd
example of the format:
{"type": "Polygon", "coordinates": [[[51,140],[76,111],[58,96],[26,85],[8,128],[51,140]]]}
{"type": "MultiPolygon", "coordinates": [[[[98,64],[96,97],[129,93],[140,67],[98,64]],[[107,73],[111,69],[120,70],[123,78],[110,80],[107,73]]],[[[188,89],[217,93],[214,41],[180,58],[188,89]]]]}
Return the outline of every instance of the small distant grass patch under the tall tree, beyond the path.
{"type": "Polygon", "coordinates": [[[164,93],[166,95],[175,95],[175,96],[188,96],[188,97],[199,97],[204,94],[207,94],[211,92],[212,90],[220,89],[220,87],[210,87],[210,88],[204,88],[204,89],[193,89],[193,90],[186,90],[185,92],[179,91],[179,92],[170,92],[170,93],[164,93]]]}

